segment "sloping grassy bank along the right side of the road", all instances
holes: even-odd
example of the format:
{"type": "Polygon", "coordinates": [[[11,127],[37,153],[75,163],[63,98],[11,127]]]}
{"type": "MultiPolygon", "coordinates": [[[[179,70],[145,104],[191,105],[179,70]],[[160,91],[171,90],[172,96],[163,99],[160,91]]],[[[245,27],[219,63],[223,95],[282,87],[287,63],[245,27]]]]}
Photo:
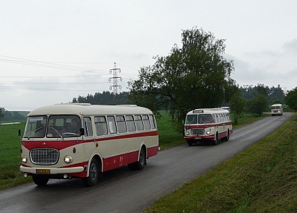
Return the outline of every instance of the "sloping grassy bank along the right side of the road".
{"type": "Polygon", "coordinates": [[[297,212],[297,114],[144,212],[297,212]]]}

